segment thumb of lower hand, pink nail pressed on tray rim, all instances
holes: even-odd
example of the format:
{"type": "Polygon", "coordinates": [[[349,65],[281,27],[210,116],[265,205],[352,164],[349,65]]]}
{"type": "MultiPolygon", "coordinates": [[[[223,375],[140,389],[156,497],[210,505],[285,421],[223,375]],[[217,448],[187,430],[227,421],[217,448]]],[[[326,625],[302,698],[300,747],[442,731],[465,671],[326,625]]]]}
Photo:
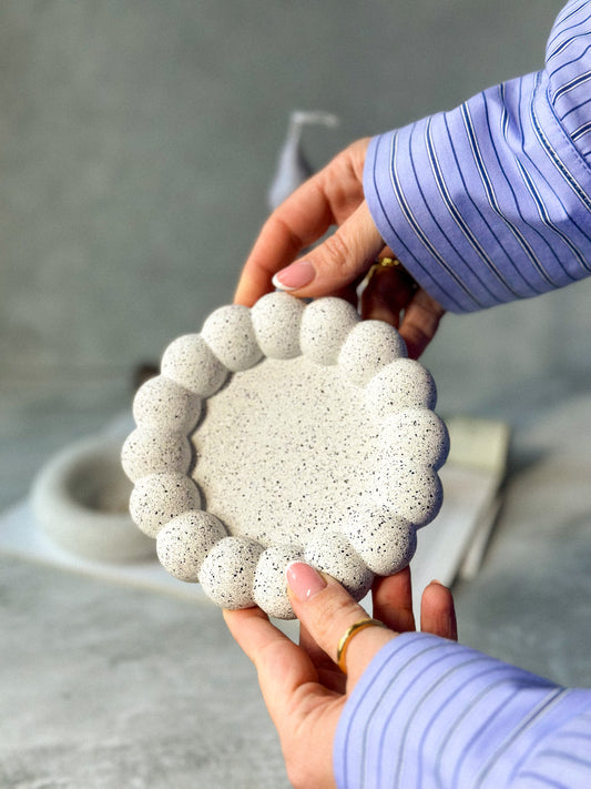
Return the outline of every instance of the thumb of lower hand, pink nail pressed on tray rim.
{"type": "MultiPolygon", "coordinates": [[[[309,565],[294,562],[286,578],[294,611],[312,638],[335,662],[338,645],[348,628],[367,619],[367,611],[340,584],[309,565]]],[[[371,658],[397,634],[386,627],[367,627],[356,633],[346,651],[347,676],[355,685],[371,658]]]]}

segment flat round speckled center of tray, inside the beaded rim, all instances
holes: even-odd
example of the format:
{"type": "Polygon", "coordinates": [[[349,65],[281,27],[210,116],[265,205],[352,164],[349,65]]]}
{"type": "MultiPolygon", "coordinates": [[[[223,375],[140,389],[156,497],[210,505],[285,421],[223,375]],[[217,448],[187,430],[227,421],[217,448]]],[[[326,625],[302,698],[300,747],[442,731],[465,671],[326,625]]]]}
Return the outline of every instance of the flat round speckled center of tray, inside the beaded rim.
{"type": "Polygon", "coordinates": [[[206,401],[193,478],[231,534],[305,544],[363,504],[376,439],[364,390],[338,366],[264,358],[206,401]]]}

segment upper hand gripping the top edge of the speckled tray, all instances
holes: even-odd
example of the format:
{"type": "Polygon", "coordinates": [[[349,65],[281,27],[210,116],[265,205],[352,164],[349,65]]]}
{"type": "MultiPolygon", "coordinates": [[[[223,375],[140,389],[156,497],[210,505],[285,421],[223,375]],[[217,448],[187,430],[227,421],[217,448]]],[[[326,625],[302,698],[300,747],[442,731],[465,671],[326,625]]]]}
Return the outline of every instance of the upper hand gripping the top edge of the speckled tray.
{"type": "MultiPolygon", "coordinates": [[[[366,139],[349,145],[272,213],[244,265],[236,303],[252,306],[275,284],[303,299],[337,295],[357,304],[357,287],[376,257],[393,254],[364,199],[368,144],[366,139]],[[295,260],[332,225],[338,226],[333,235],[295,260]]],[[[417,358],[434,337],[444,308],[421,287],[409,290],[407,281],[401,282],[399,272],[379,271],[364,295],[361,316],[399,327],[409,356],[417,358]]]]}

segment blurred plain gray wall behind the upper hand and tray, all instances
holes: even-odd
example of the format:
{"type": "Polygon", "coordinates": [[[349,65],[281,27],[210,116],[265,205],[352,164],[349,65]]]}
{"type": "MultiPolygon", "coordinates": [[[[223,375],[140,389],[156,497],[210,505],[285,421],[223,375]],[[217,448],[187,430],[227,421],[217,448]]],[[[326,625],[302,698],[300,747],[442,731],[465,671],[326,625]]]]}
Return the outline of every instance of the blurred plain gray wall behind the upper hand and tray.
{"type": "MultiPolygon", "coordinates": [[[[293,109],[349,141],[539,68],[561,0],[19,0],[0,6],[6,384],[128,374],[231,301],[293,109]]],[[[587,380],[591,283],[448,317],[444,406],[587,380]]],[[[70,384],[69,384],[70,385],[70,384]]]]}

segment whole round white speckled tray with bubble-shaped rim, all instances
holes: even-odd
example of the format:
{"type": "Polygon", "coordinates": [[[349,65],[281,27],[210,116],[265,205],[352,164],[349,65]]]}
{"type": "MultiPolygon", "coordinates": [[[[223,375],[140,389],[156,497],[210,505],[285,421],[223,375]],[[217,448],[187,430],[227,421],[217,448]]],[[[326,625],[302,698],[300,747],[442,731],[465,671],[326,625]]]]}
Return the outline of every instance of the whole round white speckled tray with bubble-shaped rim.
{"type": "Polygon", "coordinates": [[[164,567],[220,606],[293,617],[295,559],[360,599],[408,564],[441,505],[435,403],[396,330],[343,300],[221,307],[137,392],[130,512],[164,567]]]}

